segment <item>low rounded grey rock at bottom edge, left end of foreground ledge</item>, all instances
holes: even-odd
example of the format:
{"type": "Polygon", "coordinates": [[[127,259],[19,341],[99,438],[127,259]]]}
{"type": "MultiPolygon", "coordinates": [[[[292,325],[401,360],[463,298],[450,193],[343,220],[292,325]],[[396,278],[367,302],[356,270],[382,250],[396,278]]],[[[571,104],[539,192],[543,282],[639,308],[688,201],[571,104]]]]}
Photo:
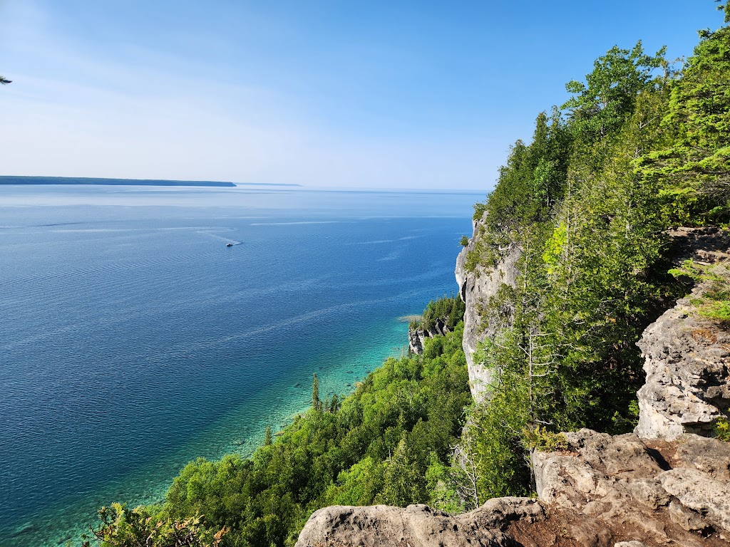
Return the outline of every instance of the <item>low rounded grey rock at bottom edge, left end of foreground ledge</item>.
{"type": "Polygon", "coordinates": [[[335,505],[312,514],[296,547],[516,547],[518,543],[507,533],[510,523],[543,519],[542,505],[526,497],[496,498],[456,516],[427,505],[404,509],[335,505]]]}

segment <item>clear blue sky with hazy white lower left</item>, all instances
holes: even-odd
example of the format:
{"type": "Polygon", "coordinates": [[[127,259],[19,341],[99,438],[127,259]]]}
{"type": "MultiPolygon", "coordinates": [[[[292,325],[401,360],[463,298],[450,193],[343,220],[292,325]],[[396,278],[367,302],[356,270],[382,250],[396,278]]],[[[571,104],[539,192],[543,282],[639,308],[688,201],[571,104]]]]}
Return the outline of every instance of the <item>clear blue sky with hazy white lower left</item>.
{"type": "Polygon", "coordinates": [[[484,190],[610,47],[711,0],[0,0],[0,174],[484,190]]]}

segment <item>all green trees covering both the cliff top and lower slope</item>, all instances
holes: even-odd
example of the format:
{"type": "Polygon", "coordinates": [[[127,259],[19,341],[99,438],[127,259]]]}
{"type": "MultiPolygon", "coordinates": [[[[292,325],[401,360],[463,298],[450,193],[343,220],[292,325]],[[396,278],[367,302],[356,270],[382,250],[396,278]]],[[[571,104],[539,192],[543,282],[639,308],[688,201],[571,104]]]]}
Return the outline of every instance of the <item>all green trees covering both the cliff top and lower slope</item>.
{"type": "MultiPolygon", "coordinates": [[[[728,74],[729,28],[703,32],[681,73],[663,49],[613,47],[585,82],[567,84],[564,111],[539,114],[529,144],[512,146],[496,187],[475,205],[465,263],[489,271],[519,250],[515,286],[480,304],[491,336],[475,360],[488,372],[488,399],[464,413],[464,303],[432,301],[410,326],[453,332],[427,339],[422,356],[389,358],[341,402],[320,400],[315,375],[312,408],[276,441],[250,459],[191,462],[164,505],[115,509],[96,538],[136,545],[145,533],[167,534],[155,531],[160,522],[191,529],[193,545],[291,546],[326,505],[464,511],[527,495],[529,450],[566,449],[556,432],[631,430],[642,384],[636,342],[686,294],[683,280],[708,282],[698,314],[730,320],[726,265],[667,273],[664,236],[672,225],[730,221],[728,74]]],[[[729,440],[726,419],[715,434],[729,440]]]]}

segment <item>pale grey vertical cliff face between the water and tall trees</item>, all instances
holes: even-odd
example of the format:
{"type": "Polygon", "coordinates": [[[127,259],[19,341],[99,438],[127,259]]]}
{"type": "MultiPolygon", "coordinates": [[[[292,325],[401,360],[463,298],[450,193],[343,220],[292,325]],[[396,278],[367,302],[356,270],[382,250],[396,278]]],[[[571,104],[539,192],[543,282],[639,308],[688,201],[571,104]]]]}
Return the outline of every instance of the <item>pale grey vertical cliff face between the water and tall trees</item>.
{"type": "Polygon", "coordinates": [[[489,303],[489,300],[496,295],[502,284],[512,287],[517,281],[517,261],[521,255],[517,246],[510,246],[504,249],[502,260],[493,267],[485,268],[477,264],[472,270],[466,268],[467,256],[473,252],[479,244],[482,233],[483,219],[473,223],[474,235],[469,244],[461,249],[456,257],[456,282],[459,287],[461,300],[466,303],[464,313],[464,354],[466,364],[469,367],[469,386],[472,389],[472,396],[475,400],[482,400],[491,381],[489,372],[475,362],[474,354],[477,345],[494,335],[496,325],[489,325],[483,321],[482,310],[489,303]]]}

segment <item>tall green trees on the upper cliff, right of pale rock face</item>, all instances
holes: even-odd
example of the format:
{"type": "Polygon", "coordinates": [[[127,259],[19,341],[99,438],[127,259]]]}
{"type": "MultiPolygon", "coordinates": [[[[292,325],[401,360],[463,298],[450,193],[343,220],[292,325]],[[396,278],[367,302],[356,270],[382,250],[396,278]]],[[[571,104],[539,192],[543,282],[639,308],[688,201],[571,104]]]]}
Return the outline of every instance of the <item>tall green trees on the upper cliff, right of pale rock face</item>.
{"type": "MultiPolygon", "coordinates": [[[[636,342],[687,291],[666,274],[665,230],[726,218],[727,34],[708,34],[684,74],[664,50],[645,55],[641,42],[609,50],[585,82],[569,82],[566,117],[540,115],[531,144],[512,147],[479,204],[486,214],[467,268],[489,270],[520,251],[515,287],[480,310],[491,335],[475,360],[490,377],[489,398],[472,410],[453,465],[463,486],[471,462],[480,502],[526,494],[529,449],[564,447],[550,432],[633,426],[636,342]]],[[[698,303],[704,317],[730,319],[722,268],[698,303]]],[[[710,272],[701,274],[694,279],[710,272]]],[[[464,507],[474,506],[467,498],[464,507]]]]}

